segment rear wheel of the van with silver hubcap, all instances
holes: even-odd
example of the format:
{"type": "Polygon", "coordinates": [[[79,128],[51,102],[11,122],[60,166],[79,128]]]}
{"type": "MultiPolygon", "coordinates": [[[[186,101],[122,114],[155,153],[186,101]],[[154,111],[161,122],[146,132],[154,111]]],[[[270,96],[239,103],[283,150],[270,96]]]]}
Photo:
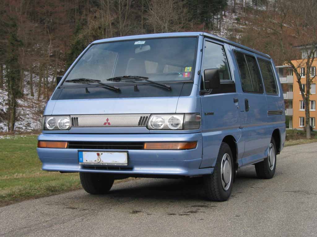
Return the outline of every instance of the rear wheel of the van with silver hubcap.
{"type": "Polygon", "coordinates": [[[272,137],[268,148],[268,156],[259,163],[255,164],[256,176],[259,179],[272,179],[276,168],[276,145],[272,137]],[[274,161],[270,158],[272,157],[274,161]],[[272,165],[273,163],[273,165],[272,165]]]}

